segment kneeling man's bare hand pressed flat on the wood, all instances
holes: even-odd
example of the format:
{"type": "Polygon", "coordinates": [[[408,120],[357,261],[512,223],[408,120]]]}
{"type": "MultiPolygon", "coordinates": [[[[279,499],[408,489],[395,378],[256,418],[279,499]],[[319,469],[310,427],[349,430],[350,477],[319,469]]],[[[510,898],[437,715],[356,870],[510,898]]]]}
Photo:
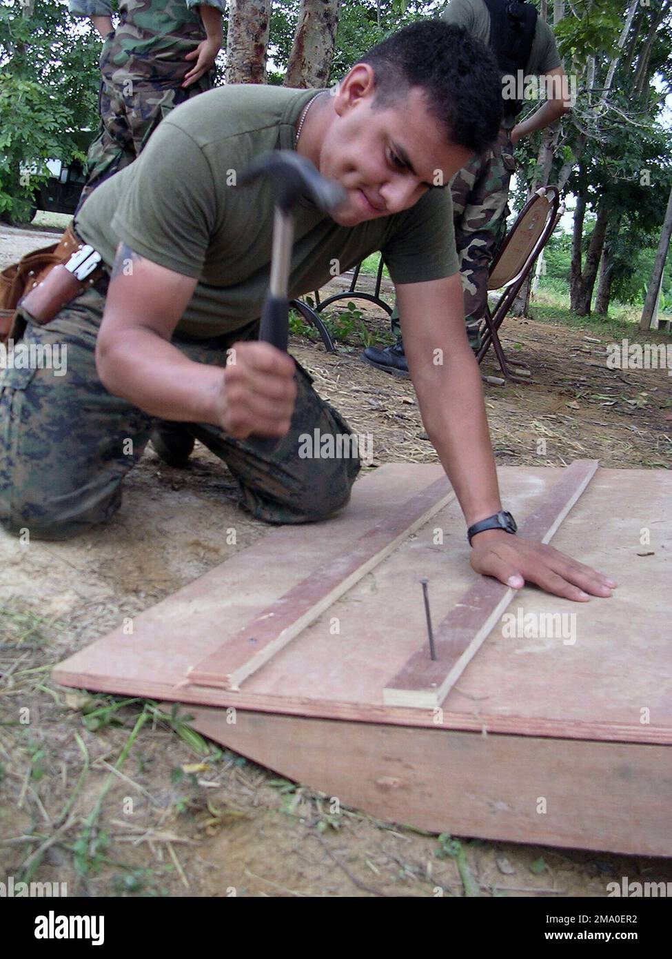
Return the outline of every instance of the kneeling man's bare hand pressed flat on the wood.
{"type": "Polygon", "coordinates": [[[613,579],[584,566],[560,550],[531,543],[499,529],[486,529],[473,539],[472,568],[518,590],[525,581],[546,593],[585,602],[591,596],[611,596],[613,579]]]}

